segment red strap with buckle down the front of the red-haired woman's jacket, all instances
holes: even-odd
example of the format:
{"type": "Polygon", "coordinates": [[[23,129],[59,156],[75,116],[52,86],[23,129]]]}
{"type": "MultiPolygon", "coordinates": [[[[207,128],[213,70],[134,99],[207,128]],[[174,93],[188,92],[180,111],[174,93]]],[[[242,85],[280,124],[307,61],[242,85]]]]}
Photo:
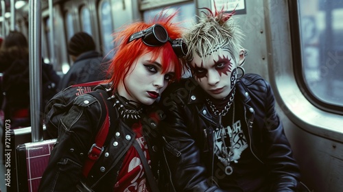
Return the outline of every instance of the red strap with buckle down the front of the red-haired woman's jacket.
{"type": "MultiPolygon", "coordinates": [[[[100,93],[102,95],[102,93],[100,93]]],[[[104,151],[104,143],[106,141],[106,137],[108,135],[108,130],[110,127],[110,121],[108,121],[108,108],[106,105],[106,101],[104,97],[102,97],[105,107],[106,107],[106,117],[102,124],[102,128],[100,128],[99,132],[97,132],[97,136],[95,137],[95,143],[92,145],[91,149],[88,152],[88,158],[86,159],[83,167],[83,174],[85,177],[88,176],[89,171],[91,171],[95,161],[101,156],[102,152],[104,151]]]]}

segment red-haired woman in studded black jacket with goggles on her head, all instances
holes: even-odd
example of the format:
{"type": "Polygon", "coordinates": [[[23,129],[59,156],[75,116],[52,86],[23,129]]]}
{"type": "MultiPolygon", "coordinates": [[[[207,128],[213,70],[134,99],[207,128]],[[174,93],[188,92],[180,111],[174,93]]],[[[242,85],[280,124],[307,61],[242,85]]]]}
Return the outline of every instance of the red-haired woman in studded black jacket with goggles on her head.
{"type": "Polygon", "coordinates": [[[108,69],[113,90],[108,95],[113,105],[108,108],[114,114],[110,124],[115,125],[109,131],[110,141],[84,176],[82,167],[102,109],[88,94],[77,97],[61,118],[58,143],[39,191],[156,191],[133,143],[138,141],[157,178],[160,137],[151,128],[147,111],[167,85],[181,77],[186,47],[182,47],[181,28],[171,22],[174,16],[161,13],[152,23],[132,23],[115,34],[118,46],[108,69]]]}

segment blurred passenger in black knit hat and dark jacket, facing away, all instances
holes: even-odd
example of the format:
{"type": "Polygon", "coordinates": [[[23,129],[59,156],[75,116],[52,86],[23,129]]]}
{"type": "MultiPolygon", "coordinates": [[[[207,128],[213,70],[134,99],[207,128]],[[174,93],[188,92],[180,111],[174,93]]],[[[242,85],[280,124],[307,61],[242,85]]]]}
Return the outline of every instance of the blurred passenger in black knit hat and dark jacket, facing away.
{"type": "Polygon", "coordinates": [[[85,82],[93,82],[104,80],[106,74],[106,65],[102,63],[102,55],[95,51],[95,43],[93,38],[84,33],[76,33],[68,43],[68,53],[73,60],[73,64],[69,71],[62,77],[60,90],[71,86],[72,84],[81,84],[85,82]]]}

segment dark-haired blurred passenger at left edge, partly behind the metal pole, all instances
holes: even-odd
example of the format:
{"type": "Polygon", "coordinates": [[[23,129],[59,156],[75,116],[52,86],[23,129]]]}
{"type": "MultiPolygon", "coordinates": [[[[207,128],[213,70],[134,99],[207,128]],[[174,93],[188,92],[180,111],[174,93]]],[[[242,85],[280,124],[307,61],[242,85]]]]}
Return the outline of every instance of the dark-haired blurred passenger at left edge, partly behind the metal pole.
{"type": "MultiPolygon", "coordinates": [[[[21,32],[10,32],[0,51],[0,72],[3,73],[2,108],[11,127],[30,125],[29,119],[29,51],[27,39],[21,32]]],[[[56,94],[60,77],[50,64],[42,61],[43,108],[56,94]]],[[[42,108],[42,110],[43,110],[42,108]]]]}

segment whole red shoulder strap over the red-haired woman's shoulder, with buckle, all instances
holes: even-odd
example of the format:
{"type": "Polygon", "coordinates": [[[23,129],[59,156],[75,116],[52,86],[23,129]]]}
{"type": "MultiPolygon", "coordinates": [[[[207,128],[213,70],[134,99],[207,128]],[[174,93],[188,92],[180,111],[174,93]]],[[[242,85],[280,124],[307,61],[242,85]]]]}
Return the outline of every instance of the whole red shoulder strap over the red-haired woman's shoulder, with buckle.
{"type": "Polygon", "coordinates": [[[98,89],[98,90],[99,91],[93,91],[91,93],[88,93],[97,98],[104,112],[102,112],[102,117],[100,117],[100,120],[99,120],[99,122],[102,122],[102,127],[99,128],[99,131],[97,132],[97,136],[95,136],[95,143],[92,145],[91,149],[89,149],[88,158],[86,158],[86,161],[84,163],[83,175],[85,177],[88,176],[88,173],[89,171],[91,171],[94,163],[102,155],[102,152],[104,152],[104,143],[106,141],[106,137],[108,135],[108,131],[110,128],[110,121],[108,121],[109,112],[108,112],[108,107],[106,104],[107,99],[105,99],[106,95],[108,94],[104,90],[101,90],[101,89],[98,89]]]}

